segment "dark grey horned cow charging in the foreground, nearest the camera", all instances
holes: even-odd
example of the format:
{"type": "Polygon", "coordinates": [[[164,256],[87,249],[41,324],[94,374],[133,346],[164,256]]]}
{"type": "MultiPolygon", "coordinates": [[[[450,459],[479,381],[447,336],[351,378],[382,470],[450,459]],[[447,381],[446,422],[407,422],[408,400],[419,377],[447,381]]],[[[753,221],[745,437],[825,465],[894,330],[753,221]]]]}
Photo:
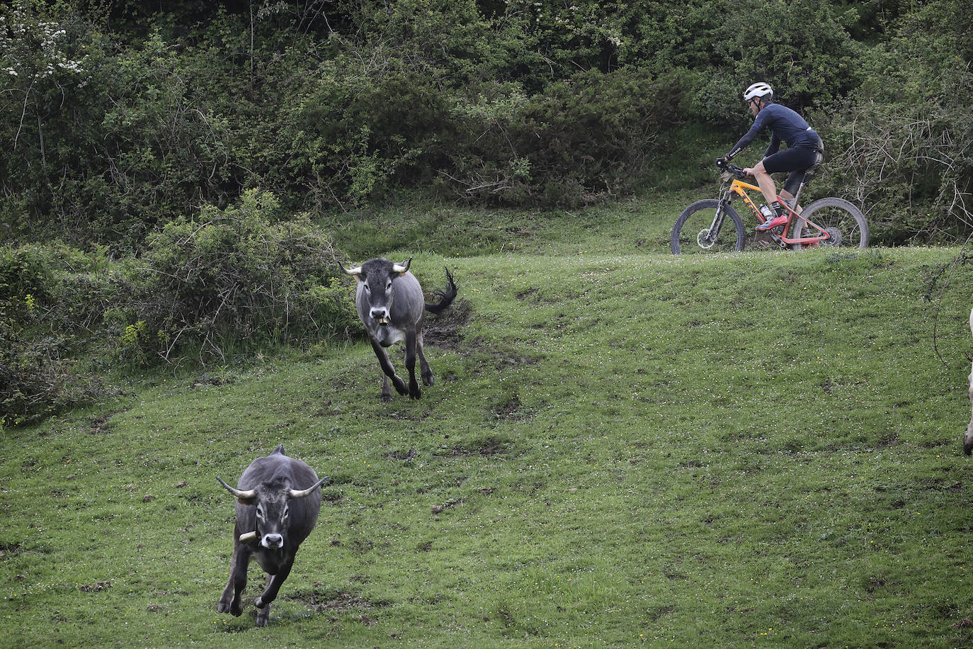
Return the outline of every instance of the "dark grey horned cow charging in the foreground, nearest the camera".
{"type": "Polygon", "coordinates": [[[220,485],[236,496],[234,556],[230,559],[230,582],[223,590],[217,610],[243,612],[240,593],[246,588],[246,571],[251,558],[267,573],[267,587],[254,603],[257,626],[266,627],[270,602],[291,573],[298,546],[310,534],[321,511],[321,487],[328,478],[318,480],[304,462],[284,454],[280,445],[267,457],[258,457],[243,471],[237,488],[220,485]]]}

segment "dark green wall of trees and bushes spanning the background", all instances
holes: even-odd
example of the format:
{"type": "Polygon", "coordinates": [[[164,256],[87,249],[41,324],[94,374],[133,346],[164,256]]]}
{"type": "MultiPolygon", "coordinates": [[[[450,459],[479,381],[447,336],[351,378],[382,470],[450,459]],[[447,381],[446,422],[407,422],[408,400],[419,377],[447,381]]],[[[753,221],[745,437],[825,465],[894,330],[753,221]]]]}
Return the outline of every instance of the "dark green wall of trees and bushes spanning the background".
{"type": "Polygon", "coordinates": [[[683,125],[729,146],[755,80],[817,111],[830,186],[881,209],[880,240],[969,229],[957,0],[18,0],[0,18],[7,240],[138,252],[253,188],[315,213],[430,188],[602,200],[684,160],[683,125]],[[904,158],[879,160],[886,137],[904,158]]]}

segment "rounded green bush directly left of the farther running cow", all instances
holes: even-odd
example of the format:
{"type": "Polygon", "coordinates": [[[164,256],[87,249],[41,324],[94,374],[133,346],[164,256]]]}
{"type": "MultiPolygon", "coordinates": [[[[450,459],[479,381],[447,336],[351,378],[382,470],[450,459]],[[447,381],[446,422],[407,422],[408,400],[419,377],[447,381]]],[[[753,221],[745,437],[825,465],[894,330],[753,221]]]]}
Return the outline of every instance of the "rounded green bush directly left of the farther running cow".
{"type": "Polygon", "coordinates": [[[151,236],[106,315],[121,356],[206,364],[234,349],[347,336],[356,318],[331,241],[306,217],[280,217],[272,195],[251,191],[151,236]]]}

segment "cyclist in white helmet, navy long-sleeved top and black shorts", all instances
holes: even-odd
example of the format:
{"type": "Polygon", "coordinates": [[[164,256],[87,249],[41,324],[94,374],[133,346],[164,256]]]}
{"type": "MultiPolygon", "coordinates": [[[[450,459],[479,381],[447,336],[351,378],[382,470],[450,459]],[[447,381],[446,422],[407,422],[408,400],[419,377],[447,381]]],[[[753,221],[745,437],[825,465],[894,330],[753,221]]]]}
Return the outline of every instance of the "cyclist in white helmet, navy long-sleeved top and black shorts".
{"type": "MultiPolygon", "coordinates": [[[[793,200],[801,186],[807,181],[810,173],[824,160],[824,143],[821,138],[800,115],[790,108],[774,103],[774,89],[768,84],[756,83],[743,92],[750,112],[753,114],[753,126],[746,131],[734,148],[723,157],[730,162],[740,151],[745,149],[766,128],[771,129],[771,143],[764,152],[764,158],[752,168],[743,169],[757,180],[757,186],[767,198],[767,204],[775,211],[775,218],[768,219],[757,226],[757,230],[771,230],[787,223],[786,211],[777,202],[776,186],[772,173],[789,171],[790,175],[784,182],[780,196],[785,200],[793,200]],[[787,148],[778,151],[780,142],[787,143],[787,148]]],[[[801,208],[795,206],[795,211],[801,208]]]]}

